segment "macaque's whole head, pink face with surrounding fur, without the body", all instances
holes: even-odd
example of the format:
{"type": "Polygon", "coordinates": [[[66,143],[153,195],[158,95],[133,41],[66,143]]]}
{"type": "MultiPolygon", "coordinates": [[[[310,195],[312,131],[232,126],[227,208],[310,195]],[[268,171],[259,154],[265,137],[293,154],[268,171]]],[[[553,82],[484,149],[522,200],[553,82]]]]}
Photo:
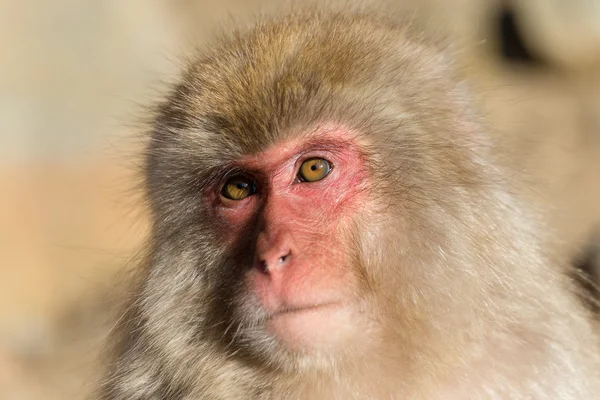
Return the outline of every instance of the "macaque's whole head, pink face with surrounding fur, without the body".
{"type": "Polygon", "coordinates": [[[407,28],[346,14],[282,17],[194,59],[147,151],[149,343],[292,370],[423,348],[452,362],[454,324],[501,309],[510,268],[487,269],[517,250],[451,68],[407,28]]]}

